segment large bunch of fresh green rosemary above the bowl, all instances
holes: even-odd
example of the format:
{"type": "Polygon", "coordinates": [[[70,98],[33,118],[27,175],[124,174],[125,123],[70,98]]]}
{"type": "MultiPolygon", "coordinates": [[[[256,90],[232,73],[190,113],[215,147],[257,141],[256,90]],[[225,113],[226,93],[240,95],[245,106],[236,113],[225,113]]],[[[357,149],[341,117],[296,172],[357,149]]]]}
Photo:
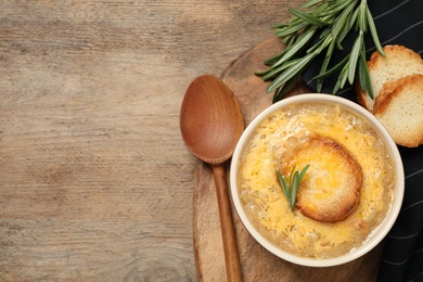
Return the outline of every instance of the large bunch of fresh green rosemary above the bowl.
{"type": "Polygon", "coordinates": [[[256,73],[262,80],[272,81],[267,92],[274,91],[273,102],[281,100],[297,77],[324,51],[320,73],[313,77],[318,92],[322,90],[324,78],[333,74],[338,74],[333,94],[343,89],[346,82],[352,85],[358,75],[361,90],[374,99],[366,64],[363,36],[367,31],[370,30],[379,52],[385,53],[367,0],[308,0],[300,9],[289,11],[293,15],[289,23],[272,26],[275,35],[286,44],[285,50],[265,61],[269,66],[266,72],[256,73]],[[343,50],[344,39],[354,30],[357,37],[350,53],[329,68],[334,51],[343,50]]]}

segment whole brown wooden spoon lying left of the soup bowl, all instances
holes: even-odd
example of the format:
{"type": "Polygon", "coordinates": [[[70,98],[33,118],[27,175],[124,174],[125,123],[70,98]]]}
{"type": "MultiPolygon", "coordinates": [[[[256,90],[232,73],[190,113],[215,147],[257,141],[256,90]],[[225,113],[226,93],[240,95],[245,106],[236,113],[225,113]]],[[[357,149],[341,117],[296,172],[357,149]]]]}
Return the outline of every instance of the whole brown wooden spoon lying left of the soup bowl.
{"type": "Polygon", "coordinates": [[[187,89],[179,121],[188,149],[213,168],[228,281],[242,281],[225,170],[244,130],[241,107],[228,86],[203,75],[187,89]]]}

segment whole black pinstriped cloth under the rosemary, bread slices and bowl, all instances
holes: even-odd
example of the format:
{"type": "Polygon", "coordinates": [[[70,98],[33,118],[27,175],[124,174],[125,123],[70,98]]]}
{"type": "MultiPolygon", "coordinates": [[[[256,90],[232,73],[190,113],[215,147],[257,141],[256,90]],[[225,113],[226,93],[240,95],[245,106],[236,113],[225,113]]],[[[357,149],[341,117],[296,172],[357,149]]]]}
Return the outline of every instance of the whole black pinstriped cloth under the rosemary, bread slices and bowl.
{"type": "MultiPolygon", "coordinates": [[[[423,0],[368,0],[368,3],[382,46],[402,44],[423,54],[423,0]]],[[[346,38],[344,51],[334,54],[335,62],[350,51],[355,38],[355,34],[346,38]]],[[[375,51],[369,33],[366,47],[369,60],[375,51]]],[[[303,75],[315,91],[311,78],[319,74],[322,60],[315,60],[303,75]]],[[[325,79],[322,92],[331,93],[336,79],[337,75],[325,79]]],[[[357,102],[352,87],[337,94],[357,102]]],[[[423,145],[399,148],[399,152],[406,174],[406,193],[398,219],[385,239],[377,278],[381,282],[423,281],[423,145]]]]}

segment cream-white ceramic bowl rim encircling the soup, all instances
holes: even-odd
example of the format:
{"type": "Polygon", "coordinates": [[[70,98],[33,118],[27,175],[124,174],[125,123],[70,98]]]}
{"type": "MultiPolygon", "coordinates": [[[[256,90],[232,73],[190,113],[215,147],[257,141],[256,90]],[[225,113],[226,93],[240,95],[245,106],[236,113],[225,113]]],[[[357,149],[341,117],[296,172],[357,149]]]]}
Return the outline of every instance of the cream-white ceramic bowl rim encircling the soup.
{"type": "Polygon", "coordinates": [[[403,198],[403,192],[405,192],[405,177],[403,177],[403,168],[402,168],[402,162],[401,157],[399,155],[398,149],[392,137],[389,136],[388,131],[384,128],[384,126],[367,110],[361,107],[360,105],[346,100],[344,98],[339,98],[336,95],[331,94],[302,94],[296,97],[286,98],[278,103],[272,104],[268,108],[266,108],[264,112],[261,112],[245,129],[244,133],[242,134],[231,163],[231,171],[230,171],[230,190],[231,190],[231,196],[232,201],[234,203],[235,209],[238,215],[241,218],[241,221],[245,226],[245,228],[248,230],[251,235],[265,248],[267,248],[269,252],[273,253],[275,256],[285,259],[287,261],[302,265],[302,266],[309,266],[309,267],[331,267],[336,265],[342,265],[348,261],[351,261],[354,259],[357,259],[361,257],[362,255],[370,252],[372,248],[374,248],[388,233],[390,228],[393,227],[403,198]],[[382,225],[376,229],[374,234],[367,240],[360,247],[357,247],[349,253],[334,257],[334,258],[323,258],[323,259],[315,259],[315,258],[307,258],[307,257],[300,257],[291,253],[287,253],[280,247],[275,246],[271,242],[269,242],[262,234],[260,234],[257,229],[252,225],[252,222],[248,220],[244,208],[242,206],[242,203],[240,201],[239,195],[239,183],[238,183],[238,170],[239,170],[239,162],[240,157],[243,154],[243,151],[245,150],[245,146],[247,142],[251,139],[251,136],[254,133],[256,127],[269,116],[269,114],[273,113],[274,111],[278,111],[280,108],[286,107],[287,105],[292,103],[300,103],[300,102],[323,102],[329,104],[337,104],[342,105],[344,108],[349,110],[350,112],[355,113],[358,116],[361,116],[363,119],[368,120],[370,125],[372,125],[375,129],[375,131],[380,134],[380,137],[384,140],[387,151],[389,152],[390,156],[394,158],[394,165],[396,169],[396,177],[397,182],[394,190],[394,201],[392,203],[392,207],[388,210],[388,214],[386,215],[386,218],[382,222],[382,225]]]}

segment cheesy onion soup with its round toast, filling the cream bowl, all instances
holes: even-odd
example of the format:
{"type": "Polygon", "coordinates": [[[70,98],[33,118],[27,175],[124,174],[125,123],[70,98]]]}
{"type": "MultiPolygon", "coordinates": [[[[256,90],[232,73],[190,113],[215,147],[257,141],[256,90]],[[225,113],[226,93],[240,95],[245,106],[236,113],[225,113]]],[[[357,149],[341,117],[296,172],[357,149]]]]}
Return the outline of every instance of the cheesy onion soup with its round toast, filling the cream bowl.
{"type": "Polygon", "coordinates": [[[396,171],[373,127],[344,108],[293,103],[254,130],[239,162],[243,209],[268,241],[294,255],[332,258],[360,246],[385,218],[396,171]],[[277,171],[309,165],[291,208],[277,171]]]}

